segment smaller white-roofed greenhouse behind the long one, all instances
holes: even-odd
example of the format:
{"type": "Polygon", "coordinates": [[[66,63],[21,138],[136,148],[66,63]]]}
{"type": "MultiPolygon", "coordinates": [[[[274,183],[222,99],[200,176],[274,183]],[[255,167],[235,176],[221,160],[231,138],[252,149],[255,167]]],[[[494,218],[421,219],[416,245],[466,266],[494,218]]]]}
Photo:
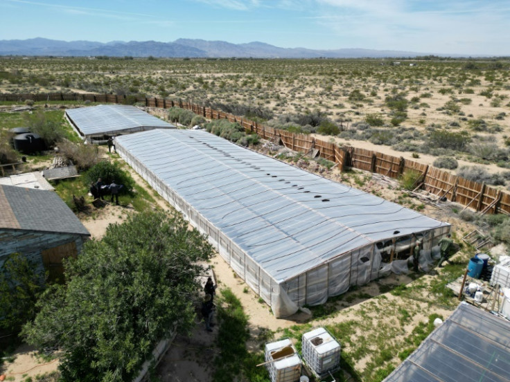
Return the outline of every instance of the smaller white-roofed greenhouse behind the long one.
{"type": "Polygon", "coordinates": [[[89,143],[105,143],[110,136],[152,129],[175,129],[171,123],[123,104],[100,104],[68,109],[66,118],[79,136],[89,143]]]}

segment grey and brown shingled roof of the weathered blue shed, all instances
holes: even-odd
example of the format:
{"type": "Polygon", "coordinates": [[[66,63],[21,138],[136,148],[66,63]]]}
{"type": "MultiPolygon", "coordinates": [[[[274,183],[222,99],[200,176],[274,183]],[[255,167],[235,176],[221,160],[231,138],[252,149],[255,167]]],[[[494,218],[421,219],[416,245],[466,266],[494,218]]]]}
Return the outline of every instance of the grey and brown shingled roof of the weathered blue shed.
{"type": "Polygon", "coordinates": [[[11,185],[0,185],[0,228],[90,236],[55,192],[11,185]]]}

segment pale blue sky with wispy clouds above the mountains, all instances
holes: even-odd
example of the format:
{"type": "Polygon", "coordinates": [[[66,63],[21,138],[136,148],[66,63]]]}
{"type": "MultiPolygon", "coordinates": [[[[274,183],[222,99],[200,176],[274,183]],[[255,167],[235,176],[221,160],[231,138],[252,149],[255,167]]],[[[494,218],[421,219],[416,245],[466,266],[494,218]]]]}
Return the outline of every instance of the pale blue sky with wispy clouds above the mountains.
{"type": "Polygon", "coordinates": [[[510,55],[509,0],[0,0],[0,39],[510,55]]]}

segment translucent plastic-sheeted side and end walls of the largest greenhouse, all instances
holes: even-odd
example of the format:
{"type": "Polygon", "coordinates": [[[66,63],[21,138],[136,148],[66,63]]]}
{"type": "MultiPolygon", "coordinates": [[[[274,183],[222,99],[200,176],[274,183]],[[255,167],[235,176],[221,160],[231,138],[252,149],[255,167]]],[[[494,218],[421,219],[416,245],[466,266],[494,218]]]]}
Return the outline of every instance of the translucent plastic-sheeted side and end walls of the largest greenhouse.
{"type": "MultiPolygon", "coordinates": [[[[352,285],[367,284],[387,274],[381,267],[383,264],[381,251],[374,243],[349,253],[339,253],[332,260],[290,280],[276,281],[221,230],[165,185],[141,161],[127,152],[121,144],[118,144],[116,149],[161,197],[182,212],[185,219],[208,237],[209,242],[218,249],[218,253],[227,264],[270,305],[277,318],[290,316],[304,305],[323,304],[329,297],[345,293],[352,285]]],[[[450,226],[443,226],[421,233],[424,249],[430,251],[449,230],[450,226]]],[[[411,246],[411,242],[400,246],[394,245],[397,251],[410,251],[411,246]]],[[[385,246],[383,251],[388,251],[388,248],[385,246]]]]}

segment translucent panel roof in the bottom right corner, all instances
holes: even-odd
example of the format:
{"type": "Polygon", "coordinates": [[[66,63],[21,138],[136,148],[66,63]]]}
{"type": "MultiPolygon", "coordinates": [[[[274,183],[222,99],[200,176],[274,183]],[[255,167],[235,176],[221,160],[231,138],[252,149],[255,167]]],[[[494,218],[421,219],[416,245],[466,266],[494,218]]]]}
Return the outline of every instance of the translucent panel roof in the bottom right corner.
{"type": "Polygon", "coordinates": [[[510,321],[462,302],[384,381],[510,381],[510,321]]]}

